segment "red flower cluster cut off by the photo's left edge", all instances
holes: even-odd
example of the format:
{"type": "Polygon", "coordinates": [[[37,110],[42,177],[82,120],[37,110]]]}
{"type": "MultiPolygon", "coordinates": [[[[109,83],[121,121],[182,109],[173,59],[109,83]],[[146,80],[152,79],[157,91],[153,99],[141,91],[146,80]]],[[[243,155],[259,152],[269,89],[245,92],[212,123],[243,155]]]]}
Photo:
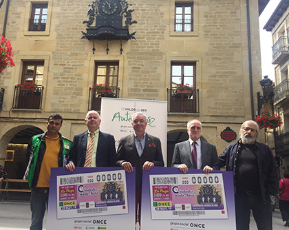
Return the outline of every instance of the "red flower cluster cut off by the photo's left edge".
{"type": "Polygon", "coordinates": [[[0,41],[0,73],[8,66],[15,66],[15,63],[12,59],[12,47],[8,39],[4,39],[1,36],[0,41]]]}

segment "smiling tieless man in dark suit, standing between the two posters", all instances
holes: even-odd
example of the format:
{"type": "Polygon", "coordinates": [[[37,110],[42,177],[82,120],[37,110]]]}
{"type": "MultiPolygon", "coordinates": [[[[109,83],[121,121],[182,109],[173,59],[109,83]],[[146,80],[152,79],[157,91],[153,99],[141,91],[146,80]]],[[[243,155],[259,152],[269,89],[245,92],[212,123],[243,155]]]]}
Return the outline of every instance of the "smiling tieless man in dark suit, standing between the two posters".
{"type": "Polygon", "coordinates": [[[153,166],[164,167],[164,159],[160,139],[145,132],[147,117],[142,113],[133,114],[131,125],[134,134],[120,139],[116,165],[128,173],[136,167],[136,213],[140,222],[142,170],[149,170],[153,166]]]}

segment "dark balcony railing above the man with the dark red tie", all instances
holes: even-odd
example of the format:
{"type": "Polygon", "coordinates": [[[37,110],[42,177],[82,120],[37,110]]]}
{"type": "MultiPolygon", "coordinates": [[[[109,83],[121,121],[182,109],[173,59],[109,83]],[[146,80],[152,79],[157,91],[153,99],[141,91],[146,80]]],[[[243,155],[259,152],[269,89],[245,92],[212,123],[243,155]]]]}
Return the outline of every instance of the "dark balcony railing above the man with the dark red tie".
{"type": "Polygon", "coordinates": [[[199,113],[199,89],[191,94],[179,94],[176,89],[167,89],[168,112],[199,113]]]}

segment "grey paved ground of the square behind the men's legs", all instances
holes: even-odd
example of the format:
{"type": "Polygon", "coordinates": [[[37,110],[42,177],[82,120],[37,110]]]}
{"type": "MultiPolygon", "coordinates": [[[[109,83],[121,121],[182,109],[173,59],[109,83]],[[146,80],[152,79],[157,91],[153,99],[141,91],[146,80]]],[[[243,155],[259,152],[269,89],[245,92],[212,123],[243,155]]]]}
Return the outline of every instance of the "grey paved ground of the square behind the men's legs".
{"type": "MultiPolygon", "coordinates": [[[[0,230],[29,229],[30,218],[31,218],[30,202],[14,201],[14,200],[0,202],[0,230]]],[[[273,229],[289,230],[289,228],[284,227],[283,224],[284,222],[282,221],[281,213],[277,209],[276,211],[273,212],[273,229]]],[[[43,222],[43,229],[46,229],[46,215],[43,222]]],[[[255,220],[253,220],[253,217],[251,217],[250,221],[250,230],[257,230],[255,220]]]]}

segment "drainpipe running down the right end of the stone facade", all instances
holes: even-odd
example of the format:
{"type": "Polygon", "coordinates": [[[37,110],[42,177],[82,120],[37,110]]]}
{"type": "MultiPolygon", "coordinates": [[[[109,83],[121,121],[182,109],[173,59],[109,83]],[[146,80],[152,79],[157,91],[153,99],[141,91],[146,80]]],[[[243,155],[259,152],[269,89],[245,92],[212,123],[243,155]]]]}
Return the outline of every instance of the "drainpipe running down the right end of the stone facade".
{"type": "Polygon", "coordinates": [[[254,99],[253,99],[253,74],[252,74],[252,50],[251,50],[251,32],[250,32],[250,4],[247,0],[247,30],[248,30],[248,55],[249,55],[249,81],[250,81],[250,104],[252,120],[255,119],[254,115],[254,99]]]}

